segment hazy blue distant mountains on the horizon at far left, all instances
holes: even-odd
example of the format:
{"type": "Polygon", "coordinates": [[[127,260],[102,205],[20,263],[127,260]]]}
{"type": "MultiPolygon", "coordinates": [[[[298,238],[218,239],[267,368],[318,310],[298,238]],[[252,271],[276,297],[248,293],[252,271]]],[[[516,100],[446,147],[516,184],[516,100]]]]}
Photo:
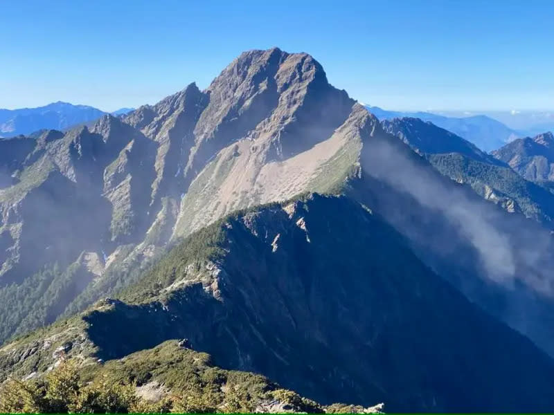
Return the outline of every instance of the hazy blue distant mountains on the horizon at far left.
{"type": "MultiPolygon", "coordinates": [[[[132,108],[122,108],[113,115],[125,115],[132,108]]],[[[0,109],[0,138],[28,135],[43,129],[66,130],[84,122],[98,120],[105,111],[87,105],[53,102],[44,107],[0,109]]]]}

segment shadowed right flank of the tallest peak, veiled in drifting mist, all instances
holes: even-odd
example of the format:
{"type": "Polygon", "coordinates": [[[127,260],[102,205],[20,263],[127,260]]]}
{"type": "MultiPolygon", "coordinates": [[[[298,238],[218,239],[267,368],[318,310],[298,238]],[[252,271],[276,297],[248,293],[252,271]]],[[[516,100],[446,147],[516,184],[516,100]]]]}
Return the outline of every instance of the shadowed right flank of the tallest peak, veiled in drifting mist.
{"type": "Polygon", "coordinates": [[[382,131],[364,143],[377,212],[424,261],[493,315],[553,353],[553,243],[548,230],[441,176],[382,131]]]}

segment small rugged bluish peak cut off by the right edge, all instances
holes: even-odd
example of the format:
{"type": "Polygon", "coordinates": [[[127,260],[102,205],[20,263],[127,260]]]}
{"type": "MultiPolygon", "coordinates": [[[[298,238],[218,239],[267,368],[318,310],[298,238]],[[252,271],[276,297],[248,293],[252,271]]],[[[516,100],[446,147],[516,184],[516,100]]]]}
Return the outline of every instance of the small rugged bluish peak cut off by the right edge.
{"type": "Polygon", "coordinates": [[[492,151],[492,155],[529,181],[554,180],[554,136],[550,132],[535,138],[519,138],[492,151]]]}

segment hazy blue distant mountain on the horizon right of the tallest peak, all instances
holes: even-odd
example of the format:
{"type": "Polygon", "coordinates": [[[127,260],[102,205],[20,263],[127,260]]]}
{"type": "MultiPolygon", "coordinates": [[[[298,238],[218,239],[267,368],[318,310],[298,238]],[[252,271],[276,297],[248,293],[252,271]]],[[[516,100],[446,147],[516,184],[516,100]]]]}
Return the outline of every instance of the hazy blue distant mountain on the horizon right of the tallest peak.
{"type": "Polygon", "coordinates": [[[366,106],[379,120],[392,120],[393,118],[420,118],[430,121],[438,127],[452,131],[457,136],[469,140],[484,151],[499,149],[507,142],[521,137],[521,133],[510,129],[502,122],[488,116],[477,115],[469,117],[446,117],[429,112],[402,112],[386,111],[379,107],[366,106]]]}

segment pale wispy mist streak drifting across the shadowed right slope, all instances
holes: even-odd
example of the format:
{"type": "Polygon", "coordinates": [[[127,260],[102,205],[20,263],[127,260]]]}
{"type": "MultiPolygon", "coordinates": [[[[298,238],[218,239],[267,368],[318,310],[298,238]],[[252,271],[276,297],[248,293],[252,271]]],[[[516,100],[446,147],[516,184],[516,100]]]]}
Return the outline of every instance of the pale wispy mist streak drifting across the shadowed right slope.
{"type": "Polygon", "coordinates": [[[471,241],[490,279],[512,284],[519,278],[537,291],[553,293],[550,279],[545,284],[544,278],[535,275],[544,265],[541,263],[553,262],[549,250],[551,237],[546,230],[523,217],[508,214],[475,196],[467,187],[439,176],[415,154],[408,155],[401,145],[395,144],[373,140],[370,150],[364,151],[365,172],[443,215],[462,237],[471,241]]]}

